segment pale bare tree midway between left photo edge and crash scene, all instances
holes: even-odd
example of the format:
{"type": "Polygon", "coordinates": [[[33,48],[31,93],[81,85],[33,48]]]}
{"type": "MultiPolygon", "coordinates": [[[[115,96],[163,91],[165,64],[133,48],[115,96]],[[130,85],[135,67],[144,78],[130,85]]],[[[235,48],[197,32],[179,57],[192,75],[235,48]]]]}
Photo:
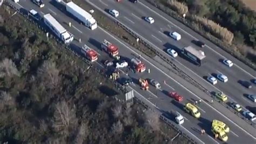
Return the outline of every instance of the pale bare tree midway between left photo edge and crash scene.
{"type": "Polygon", "coordinates": [[[38,74],[42,81],[47,83],[48,88],[55,88],[60,81],[59,70],[52,61],[45,61],[43,66],[38,69],[38,74]]]}

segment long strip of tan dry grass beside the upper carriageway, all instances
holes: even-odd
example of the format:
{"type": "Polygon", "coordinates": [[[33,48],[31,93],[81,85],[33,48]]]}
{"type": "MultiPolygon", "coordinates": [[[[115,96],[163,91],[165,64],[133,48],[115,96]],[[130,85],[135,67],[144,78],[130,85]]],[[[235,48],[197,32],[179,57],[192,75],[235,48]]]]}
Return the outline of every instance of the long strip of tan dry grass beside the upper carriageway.
{"type": "Polygon", "coordinates": [[[193,16],[192,19],[198,21],[198,23],[207,28],[208,31],[216,35],[219,39],[227,42],[227,44],[232,44],[234,34],[228,31],[227,28],[221,27],[219,24],[207,18],[193,16]]]}

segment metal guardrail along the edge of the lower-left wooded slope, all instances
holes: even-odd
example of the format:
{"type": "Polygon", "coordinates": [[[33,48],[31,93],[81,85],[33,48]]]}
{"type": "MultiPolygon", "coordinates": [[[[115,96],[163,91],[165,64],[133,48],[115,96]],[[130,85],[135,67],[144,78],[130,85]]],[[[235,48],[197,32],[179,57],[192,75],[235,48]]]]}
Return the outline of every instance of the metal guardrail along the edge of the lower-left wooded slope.
{"type": "MultiPolygon", "coordinates": [[[[29,18],[28,15],[25,15],[24,13],[22,13],[21,11],[19,11],[19,9],[17,9],[14,5],[12,5],[9,1],[4,1],[7,5],[9,5],[12,9],[14,9],[15,11],[17,11],[20,15],[22,15],[23,17],[25,17],[26,19],[30,20],[31,23],[35,24],[38,28],[40,28],[45,34],[47,33],[46,30],[44,29],[44,27],[38,25],[38,23],[36,23],[34,20],[32,20],[31,18],[29,18]]],[[[72,51],[71,48],[68,47],[68,45],[64,44],[63,41],[60,41],[58,38],[55,37],[55,35],[52,35],[53,39],[55,39],[59,44],[63,45],[68,51],[72,52],[73,54],[75,54],[76,56],[78,56],[79,58],[81,58],[84,62],[86,62],[87,64],[89,64],[89,66],[91,68],[94,68],[99,74],[104,75],[107,80],[111,81],[109,79],[109,77],[107,77],[107,75],[104,74],[104,72],[101,69],[98,69],[97,67],[94,67],[91,62],[87,59],[85,59],[84,57],[80,56],[79,54],[77,54],[75,51],[72,51]]],[[[116,81],[111,81],[115,87],[122,91],[123,93],[128,92],[126,87],[124,87],[123,85],[120,85],[119,83],[117,83],[116,81]]],[[[136,101],[140,104],[142,104],[143,106],[145,106],[147,109],[151,109],[150,106],[148,106],[147,104],[145,104],[142,100],[140,100],[138,97],[134,97],[136,99],[136,101]]],[[[185,133],[183,133],[178,127],[176,127],[175,125],[172,124],[172,121],[167,119],[166,117],[159,115],[159,118],[162,119],[163,121],[165,121],[166,124],[170,125],[173,129],[175,129],[177,132],[180,132],[186,139],[190,140],[192,143],[196,143],[196,141],[194,141],[192,138],[190,138],[190,136],[186,135],[185,133]]]]}

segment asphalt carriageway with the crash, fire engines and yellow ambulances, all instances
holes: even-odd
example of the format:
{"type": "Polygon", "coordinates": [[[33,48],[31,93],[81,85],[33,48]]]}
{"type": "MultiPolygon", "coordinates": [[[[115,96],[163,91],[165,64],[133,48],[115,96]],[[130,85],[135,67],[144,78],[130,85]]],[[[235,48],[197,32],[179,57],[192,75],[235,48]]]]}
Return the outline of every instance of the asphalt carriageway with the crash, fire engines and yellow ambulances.
{"type": "MultiPolygon", "coordinates": [[[[74,40],[72,44],[70,44],[70,46],[75,51],[79,52],[79,47],[82,47],[83,44],[86,44],[98,52],[99,59],[95,63],[95,66],[103,67],[101,62],[106,59],[110,59],[110,57],[105,52],[99,50],[100,42],[102,42],[104,39],[107,39],[113,44],[117,45],[119,47],[119,54],[122,57],[125,57],[125,59],[131,59],[132,57],[139,55],[139,52],[136,52],[135,49],[127,46],[124,42],[107,33],[102,28],[98,27],[96,30],[91,31],[89,28],[78,24],[77,21],[75,21],[73,18],[65,15],[64,11],[60,11],[60,9],[58,9],[56,6],[50,4],[49,1],[44,2],[45,7],[42,9],[40,9],[35,4],[32,4],[30,1],[23,1],[15,5],[17,8],[21,8],[19,6],[22,6],[26,10],[35,9],[41,14],[41,16],[46,13],[51,13],[51,15],[55,17],[60,24],[62,24],[68,31],[75,35],[76,39],[82,39],[81,43],[79,43],[77,40],[74,40]],[[67,25],[68,22],[72,23],[72,27],[67,25]]],[[[185,117],[185,123],[181,126],[177,125],[177,127],[190,135],[192,139],[196,140],[198,143],[222,143],[219,140],[215,140],[213,138],[213,134],[210,131],[211,121],[213,119],[218,119],[224,121],[231,128],[232,132],[228,133],[228,143],[256,142],[255,138],[253,138],[251,134],[247,133],[244,129],[241,129],[240,126],[233,124],[233,121],[227,119],[220,112],[217,112],[217,110],[213,109],[212,106],[210,106],[208,103],[205,103],[205,101],[199,105],[201,118],[196,119],[185,113],[183,111],[183,104],[186,102],[193,103],[194,100],[198,99],[199,97],[188,90],[190,88],[184,87],[183,84],[178,83],[178,78],[176,75],[172,73],[166,73],[164,70],[158,68],[157,64],[155,64],[152,59],[149,59],[149,57],[146,57],[142,54],[141,59],[145,63],[147,69],[150,69],[150,73],[145,71],[144,73],[134,74],[131,71],[127,71],[126,73],[128,73],[134,81],[134,84],[132,84],[130,88],[135,91],[136,95],[144,97],[145,102],[150,103],[152,107],[155,107],[160,112],[168,114],[170,111],[178,111],[181,113],[185,117]],[[161,90],[156,90],[152,86],[150,87],[149,91],[141,90],[137,84],[138,78],[140,77],[153,78],[154,80],[157,80],[161,84],[161,90]],[[166,84],[164,84],[164,81],[166,81],[166,84]],[[173,102],[171,98],[166,96],[166,93],[170,91],[177,91],[180,95],[184,96],[183,102],[173,102]],[[201,128],[204,128],[207,134],[201,135],[201,128]]],[[[193,87],[191,86],[191,88],[193,87]]]]}

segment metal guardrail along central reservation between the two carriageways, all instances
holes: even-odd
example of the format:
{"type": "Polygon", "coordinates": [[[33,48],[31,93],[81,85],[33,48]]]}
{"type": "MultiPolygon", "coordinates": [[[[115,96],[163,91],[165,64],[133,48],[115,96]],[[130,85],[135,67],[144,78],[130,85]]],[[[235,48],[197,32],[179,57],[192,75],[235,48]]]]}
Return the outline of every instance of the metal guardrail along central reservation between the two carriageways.
{"type": "Polygon", "coordinates": [[[176,64],[174,64],[170,59],[168,59],[167,57],[165,57],[163,54],[161,54],[159,51],[157,51],[156,48],[153,48],[150,44],[148,44],[143,38],[139,37],[134,31],[130,30],[129,28],[127,28],[125,25],[123,25],[122,23],[120,23],[118,20],[114,20],[115,23],[117,23],[120,27],[122,27],[126,32],[129,32],[134,38],[139,38],[140,42],[142,42],[146,47],[148,47],[151,51],[153,51],[154,53],[156,53],[157,56],[159,56],[162,60],[164,60],[166,63],[168,63],[172,69],[164,66],[164,64],[161,64],[162,66],[164,66],[165,68],[169,69],[170,71],[172,71],[174,74],[184,78],[184,80],[186,80],[187,82],[191,83],[192,85],[195,85],[197,88],[199,88],[200,90],[204,91],[208,96],[211,96],[214,98],[214,100],[216,100],[217,102],[219,102],[221,105],[225,106],[228,110],[230,110],[231,112],[235,113],[238,117],[240,117],[241,119],[245,120],[248,124],[250,124],[251,126],[256,128],[256,124],[252,123],[250,120],[246,119],[244,116],[242,116],[240,113],[238,113],[237,111],[235,111],[234,109],[232,109],[232,107],[226,103],[221,102],[218,99],[215,99],[215,96],[212,95],[212,93],[210,91],[208,91],[203,85],[201,85],[200,83],[198,83],[197,81],[195,81],[192,77],[190,77],[189,75],[187,75],[184,71],[182,71],[181,69],[179,69],[176,64]]]}

